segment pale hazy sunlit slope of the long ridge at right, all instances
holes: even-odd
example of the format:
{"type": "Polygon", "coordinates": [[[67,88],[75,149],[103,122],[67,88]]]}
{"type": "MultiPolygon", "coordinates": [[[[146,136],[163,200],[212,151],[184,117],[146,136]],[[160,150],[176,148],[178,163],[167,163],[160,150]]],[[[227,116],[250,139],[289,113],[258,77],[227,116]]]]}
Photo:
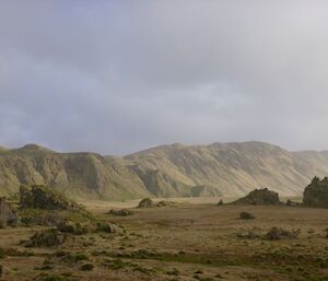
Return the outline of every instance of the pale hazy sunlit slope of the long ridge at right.
{"type": "Polygon", "coordinates": [[[306,153],[291,153],[268,143],[244,142],[164,145],[134,153],[126,160],[143,175],[165,175],[169,178],[166,186],[171,183],[206,186],[233,197],[257,187],[269,187],[282,196],[296,196],[314,175],[328,174],[328,157],[320,156],[324,152],[314,154],[309,157],[306,153]]]}

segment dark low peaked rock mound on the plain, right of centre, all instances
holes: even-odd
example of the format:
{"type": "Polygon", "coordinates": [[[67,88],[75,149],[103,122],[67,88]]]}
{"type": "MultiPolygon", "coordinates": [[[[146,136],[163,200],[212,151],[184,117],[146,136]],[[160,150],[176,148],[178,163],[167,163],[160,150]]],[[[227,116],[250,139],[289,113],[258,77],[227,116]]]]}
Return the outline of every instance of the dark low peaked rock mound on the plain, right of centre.
{"type": "Polygon", "coordinates": [[[233,204],[279,204],[279,195],[268,188],[255,189],[247,196],[236,200],[233,204]]]}

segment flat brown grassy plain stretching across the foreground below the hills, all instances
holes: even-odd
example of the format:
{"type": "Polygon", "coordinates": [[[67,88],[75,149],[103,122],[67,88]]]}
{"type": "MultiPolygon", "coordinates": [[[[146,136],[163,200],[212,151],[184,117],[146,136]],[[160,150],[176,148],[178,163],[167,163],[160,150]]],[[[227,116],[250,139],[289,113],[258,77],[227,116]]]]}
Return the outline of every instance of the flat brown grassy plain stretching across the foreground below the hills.
{"type": "Polygon", "coordinates": [[[91,210],[125,231],[72,235],[57,248],[26,248],[20,244],[44,227],[0,230],[2,279],[328,280],[327,209],[179,203],[133,209],[125,218],[106,214],[106,207],[91,210]],[[242,211],[256,219],[241,220],[242,211]],[[272,226],[298,238],[263,239],[272,226]]]}

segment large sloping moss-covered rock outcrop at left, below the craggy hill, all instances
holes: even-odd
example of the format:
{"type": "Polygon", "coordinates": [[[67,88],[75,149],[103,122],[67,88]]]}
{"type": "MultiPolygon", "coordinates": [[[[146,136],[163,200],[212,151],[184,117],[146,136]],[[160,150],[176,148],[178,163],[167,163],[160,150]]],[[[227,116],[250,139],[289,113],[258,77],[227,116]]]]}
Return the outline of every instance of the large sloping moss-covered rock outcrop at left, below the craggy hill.
{"type": "Polygon", "coordinates": [[[20,189],[20,208],[44,210],[78,210],[79,204],[69,200],[63,195],[51,188],[37,185],[28,189],[22,186],[20,189]]]}

